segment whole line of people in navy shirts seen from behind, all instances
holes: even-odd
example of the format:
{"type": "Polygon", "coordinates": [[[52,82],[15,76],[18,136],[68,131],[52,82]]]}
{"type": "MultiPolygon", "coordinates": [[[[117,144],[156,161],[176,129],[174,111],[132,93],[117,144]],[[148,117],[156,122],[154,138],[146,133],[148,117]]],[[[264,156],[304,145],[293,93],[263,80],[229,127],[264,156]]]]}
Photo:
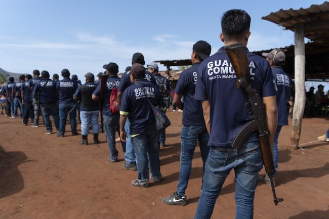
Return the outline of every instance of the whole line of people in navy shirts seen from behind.
{"type": "MultiPolygon", "coordinates": [[[[236,218],[253,218],[257,183],[259,180],[268,183],[266,175],[259,179],[263,161],[256,132],[249,136],[241,149],[231,147],[237,131],[249,118],[250,108],[245,106],[246,95],[236,88],[236,75],[225,47],[234,43],[246,46],[251,35],[250,25],[251,18],[245,11],[234,9],[225,12],[221,19],[220,34],[224,47],[210,56],[211,45],[203,40],[197,41],[192,48],[193,65],[181,73],[175,88],[173,102],[183,110],[180,174],[175,192],[163,197],[162,202],[169,205],[186,205],[185,191],[198,142],[203,162],[203,178],[196,219],[211,217],[221,188],[232,169],[235,171],[236,218]]],[[[291,97],[290,79],[282,70],[285,55],[281,50],[273,50],[263,54],[266,57],[264,59],[250,53],[248,49],[247,54],[251,84],[263,97],[266,105],[267,118],[264,119],[268,122],[269,139],[273,146],[277,170],[277,140],[282,125],[287,125],[286,103],[291,97]]],[[[42,71],[40,78],[38,71],[34,70],[33,78],[21,85],[27,86],[21,89],[25,109],[31,112],[31,106],[26,103],[32,101],[34,125],[37,126],[35,119],[38,118],[40,106],[46,123],[46,133],[52,133],[52,115],[58,131],[57,136],[63,137],[67,114],[70,116],[72,135],[77,135],[74,108],[79,102],[80,144],[88,145],[90,123],[94,142],[99,143],[98,120],[101,102],[109,161],[118,161],[118,150],[115,146],[117,132],[122,151],[125,153],[122,168],[137,170],[137,178],[133,180],[132,186],[148,187],[150,180],[157,183],[162,179],[159,149],[165,147],[166,137],[165,130],[158,132],[155,128],[152,105],[160,106],[166,111],[170,104],[170,84],[168,79],[158,73],[156,63],[150,63],[146,68],[144,65],[144,56],[135,53],[132,57],[132,67],[127,69],[121,78],[117,76],[118,66],[115,63],[104,65],[105,74],[108,74],[105,87],[102,87],[102,83],[94,82],[92,73],[85,75],[84,85],[78,85],[69,78],[67,69],[62,70],[64,79],[58,82],[49,79],[47,71],[42,71]],[[25,101],[26,96],[29,98],[25,101]],[[101,97],[103,99],[100,99],[101,97]]],[[[11,81],[7,85],[7,91],[10,84],[11,81]]],[[[17,85],[14,85],[13,91],[17,90],[15,86],[17,85]]]]}

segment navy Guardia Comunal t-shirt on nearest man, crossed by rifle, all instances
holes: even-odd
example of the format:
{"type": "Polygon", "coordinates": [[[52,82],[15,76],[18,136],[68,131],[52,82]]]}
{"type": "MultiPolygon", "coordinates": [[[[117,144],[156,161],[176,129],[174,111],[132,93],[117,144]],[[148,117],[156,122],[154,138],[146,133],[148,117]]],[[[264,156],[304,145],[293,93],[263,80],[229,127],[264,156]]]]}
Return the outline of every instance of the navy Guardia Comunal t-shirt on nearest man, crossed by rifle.
{"type": "MultiPolygon", "coordinates": [[[[275,96],[275,84],[269,63],[248,52],[251,84],[262,97],[275,96]]],[[[236,88],[236,75],[224,47],[198,67],[195,99],[210,102],[210,146],[229,146],[249,118],[247,95],[236,88]]],[[[257,141],[257,133],[246,142],[257,141]]]]}

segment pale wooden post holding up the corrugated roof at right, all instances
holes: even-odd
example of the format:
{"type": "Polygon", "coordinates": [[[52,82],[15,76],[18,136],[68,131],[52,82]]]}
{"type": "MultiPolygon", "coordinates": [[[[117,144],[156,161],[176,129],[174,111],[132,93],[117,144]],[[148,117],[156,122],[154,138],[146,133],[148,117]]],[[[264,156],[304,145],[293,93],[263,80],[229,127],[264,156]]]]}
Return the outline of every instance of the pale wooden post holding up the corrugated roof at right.
{"type": "Polygon", "coordinates": [[[305,107],[305,42],[304,24],[295,25],[295,104],[292,124],[292,146],[298,149],[305,107]]]}

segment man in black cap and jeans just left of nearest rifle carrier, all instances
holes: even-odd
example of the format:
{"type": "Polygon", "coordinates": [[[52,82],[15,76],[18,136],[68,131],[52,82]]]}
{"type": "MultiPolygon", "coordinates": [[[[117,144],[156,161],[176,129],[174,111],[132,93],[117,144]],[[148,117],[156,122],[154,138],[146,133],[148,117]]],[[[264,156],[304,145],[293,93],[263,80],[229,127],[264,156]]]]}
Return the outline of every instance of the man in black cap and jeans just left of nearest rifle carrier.
{"type": "Polygon", "coordinates": [[[162,198],[162,202],[171,205],[186,205],[185,190],[191,174],[192,159],[197,141],[199,141],[201,157],[207,160],[209,134],[205,127],[201,101],[194,99],[197,69],[200,63],[211,53],[208,42],[199,40],[193,45],[191,54],[192,67],[181,73],[175,88],[174,104],[183,110],[183,128],[181,132],[182,150],[179,181],[176,192],[170,197],[162,198]],[[181,101],[184,97],[184,103],[181,101]]]}

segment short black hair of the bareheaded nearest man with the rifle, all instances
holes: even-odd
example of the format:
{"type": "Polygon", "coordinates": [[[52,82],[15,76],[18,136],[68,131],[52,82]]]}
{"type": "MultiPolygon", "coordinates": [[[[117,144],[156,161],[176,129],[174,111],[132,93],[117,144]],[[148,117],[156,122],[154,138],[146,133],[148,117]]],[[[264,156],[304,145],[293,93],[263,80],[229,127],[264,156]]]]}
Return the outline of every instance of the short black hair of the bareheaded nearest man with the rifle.
{"type": "Polygon", "coordinates": [[[222,16],[222,33],[224,38],[239,38],[249,31],[251,18],[248,13],[240,9],[232,9],[222,16]]]}

